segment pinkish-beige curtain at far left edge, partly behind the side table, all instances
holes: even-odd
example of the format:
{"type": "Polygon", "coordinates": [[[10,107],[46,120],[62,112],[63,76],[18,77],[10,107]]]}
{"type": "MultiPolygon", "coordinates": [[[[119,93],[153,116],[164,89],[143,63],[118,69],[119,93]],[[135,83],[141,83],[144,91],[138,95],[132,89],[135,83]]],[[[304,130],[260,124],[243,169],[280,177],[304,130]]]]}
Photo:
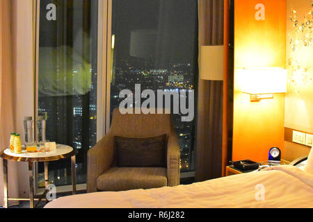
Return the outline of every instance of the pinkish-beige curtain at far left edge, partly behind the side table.
{"type": "MultiPolygon", "coordinates": [[[[15,128],[15,76],[12,68],[10,0],[0,1],[0,151],[10,145],[15,128]]],[[[17,164],[8,161],[9,196],[18,196],[17,164]]],[[[10,203],[10,204],[15,204],[10,203]]],[[[3,169],[0,161],[0,205],[3,204],[3,169]]]]}

